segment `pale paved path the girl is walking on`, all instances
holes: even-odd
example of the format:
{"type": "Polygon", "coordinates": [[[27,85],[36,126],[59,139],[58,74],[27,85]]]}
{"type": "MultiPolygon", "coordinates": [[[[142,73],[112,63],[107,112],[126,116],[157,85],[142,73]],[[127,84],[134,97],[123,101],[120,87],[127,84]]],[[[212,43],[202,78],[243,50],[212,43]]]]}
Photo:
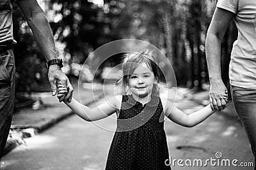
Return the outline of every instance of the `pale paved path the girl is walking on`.
{"type": "MultiPolygon", "coordinates": [[[[104,99],[102,99],[104,100],[104,99]]],[[[193,101],[180,100],[176,103],[185,112],[202,108],[193,101]]],[[[95,106],[92,104],[90,107],[95,106]]],[[[49,169],[104,169],[109,146],[113,138],[115,115],[97,122],[85,122],[76,115],[69,117],[33,138],[26,139],[2,159],[2,170],[49,170],[49,169]]],[[[237,159],[253,162],[250,144],[241,124],[235,119],[218,112],[202,124],[193,128],[181,127],[170,120],[165,121],[170,157],[173,159],[237,159]]],[[[220,159],[220,160],[221,160],[220,159]]],[[[184,162],[183,162],[184,164],[184,162]]],[[[175,162],[172,169],[253,169],[252,167],[211,166],[181,167],[175,162]]]]}

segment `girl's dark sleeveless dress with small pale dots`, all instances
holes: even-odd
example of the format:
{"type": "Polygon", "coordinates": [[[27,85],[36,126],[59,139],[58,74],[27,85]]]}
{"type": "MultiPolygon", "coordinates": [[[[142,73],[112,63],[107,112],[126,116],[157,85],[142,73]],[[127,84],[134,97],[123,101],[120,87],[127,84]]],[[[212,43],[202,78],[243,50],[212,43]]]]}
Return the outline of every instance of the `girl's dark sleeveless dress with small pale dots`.
{"type": "Polygon", "coordinates": [[[171,169],[163,117],[160,97],[143,106],[132,95],[123,96],[106,170],[171,169]]]}

